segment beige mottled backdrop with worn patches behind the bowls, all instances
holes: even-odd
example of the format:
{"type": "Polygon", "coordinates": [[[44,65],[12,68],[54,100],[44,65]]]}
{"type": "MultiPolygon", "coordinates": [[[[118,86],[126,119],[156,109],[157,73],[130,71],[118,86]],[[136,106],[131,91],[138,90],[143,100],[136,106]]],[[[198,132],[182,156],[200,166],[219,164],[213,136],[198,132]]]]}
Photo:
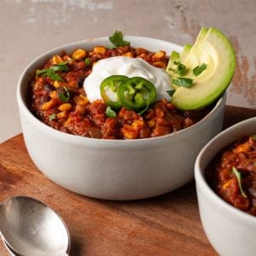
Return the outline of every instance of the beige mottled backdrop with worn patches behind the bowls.
{"type": "Polygon", "coordinates": [[[201,26],[217,26],[237,52],[228,104],[256,108],[255,20],[255,0],[1,0],[0,143],[21,131],[15,89],[30,61],[115,30],[191,44],[201,26]]]}

